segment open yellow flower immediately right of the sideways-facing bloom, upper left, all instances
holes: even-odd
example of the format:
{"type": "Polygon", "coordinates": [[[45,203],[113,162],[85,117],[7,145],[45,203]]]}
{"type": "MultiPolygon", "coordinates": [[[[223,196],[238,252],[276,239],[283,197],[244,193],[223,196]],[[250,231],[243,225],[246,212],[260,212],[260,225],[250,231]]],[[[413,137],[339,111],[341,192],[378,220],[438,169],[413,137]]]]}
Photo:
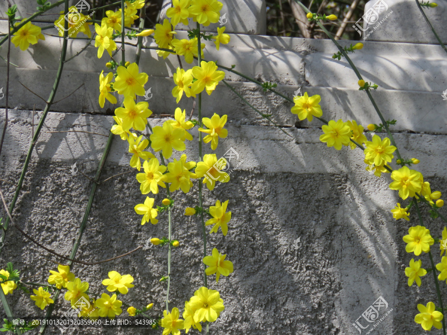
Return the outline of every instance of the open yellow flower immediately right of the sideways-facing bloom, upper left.
{"type": "Polygon", "coordinates": [[[144,85],[148,81],[149,76],[144,72],[140,73],[137,63],[132,63],[129,67],[118,67],[116,73],[117,76],[113,88],[118,91],[118,94],[134,98],[135,95],[144,96],[146,94],[144,85]]]}

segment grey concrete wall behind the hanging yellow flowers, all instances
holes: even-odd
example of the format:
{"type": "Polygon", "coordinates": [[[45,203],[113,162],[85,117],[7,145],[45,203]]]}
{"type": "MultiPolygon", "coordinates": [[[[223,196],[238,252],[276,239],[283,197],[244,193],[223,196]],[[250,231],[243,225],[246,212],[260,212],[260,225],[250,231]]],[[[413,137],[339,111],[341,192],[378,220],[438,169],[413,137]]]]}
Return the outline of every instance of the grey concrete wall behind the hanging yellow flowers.
{"type": "MultiPolygon", "coordinates": [[[[3,16],[1,13],[0,10],[3,16]]],[[[4,31],[3,27],[0,26],[0,31],[4,31]]],[[[69,56],[84,43],[70,41],[69,56]]],[[[33,106],[37,111],[35,125],[44,107],[18,81],[46,98],[54,81],[60,48],[58,39],[47,37],[27,52],[11,50],[11,60],[19,67],[11,67],[9,107],[16,108],[9,111],[6,142],[0,157],[3,180],[17,182],[31,138],[33,106]]],[[[326,119],[355,119],[365,126],[380,122],[366,94],[358,91],[357,78],[346,61],[331,58],[337,50],[330,41],[234,34],[230,44],[221,46],[219,53],[213,48],[214,44],[209,43],[206,59],[222,59],[225,66],[234,64],[235,69],[257,79],[277,82],[278,90],[290,97],[300,87],[302,92],[320,94],[326,119]]],[[[132,47],[127,48],[130,59],[134,52],[132,47]]],[[[2,48],[0,55],[5,54],[6,49],[2,48]]],[[[393,132],[401,154],[419,158],[417,169],[431,182],[432,190],[444,191],[447,186],[447,102],[441,95],[447,89],[444,51],[431,44],[366,42],[352,60],[366,80],[379,85],[373,95],[385,118],[398,120],[393,132]]],[[[80,84],[84,86],[52,106],[13,213],[24,230],[65,255],[72,249],[91,187],[88,179],[79,172],[73,175],[70,168],[76,162],[79,171],[93,177],[106,137],[47,132],[83,130],[108,134],[113,119],[107,108],[113,107],[106,103],[100,109],[97,101],[103,61],[89,47],[81,57],[66,64],[56,100],[80,84]]],[[[149,73],[146,88],[152,87],[149,108],[155,115],[172,115],[176,105],[169,93],[172,78],[168,77],[175,71],[177,59],[169,57],[165,62],[147,51],[141,64],[149,73]]],[[[5,86],[5,70],[5,63],[0,63],[0,87],[5,86]]],[[[216,154],[221,156],[232,147],[241,162],[228,183],[204,192],[206,206],[228,199],[232,212],[225,237],[220,233],[208,235],[208,252],[217,247],[234,264],[234,273],[221,277],[218,284],[209,277],[210,287],[221,292],[225,305],[221,318],[211,327],[211,334],[359,334],[352,324],[380,296],[388,303],[386,311],[392,309],[392,312],[373,334],[421,334],[421,327],[413,319],[418,313],[417,303],[437,301],[433,277],[431,273],[423,277],[421,288],[406,284],[404,268],[412,256],[405,253],[402,236],[407,234],[408,227],[417,224],[417,217],[413,212],[410,222],[392,218],[389,210],[399,200],[388,189],[389,175],[376,178],[365,171],[360,150],[326,148],[319,141],[318,121],[302,122],[297,128],[298,120],[290,113],[290,103],[234,74],[226,73],[226,78],[262,112],[273,114],[275,122],[292,137],[261,119],[223,84],[211,96],[203,97],[205,116],[214,112],[228,114],[229,135],[219,141],[216,154]],[[302,245],[297,250],[294,241],[298,238],[302,245]]],[[[1,99],[0,107],[4,103],[1,99]]],[[[192,102],[182,99],[179,107],[189,111],[192,102]]],[[[165,120],[153,117],[149,122],[155,126],[165,120]]],[[[4,110],[0,110],[0,125],[3,123],[4,110]]],[[[195,141],[187,143],[185,153],[197,160],[197,130],[193,136],[195,141]]],[[[211,153],[209,145],[204,147],[205,153],[211,153]]],[[[178,158],[179,154],[174,156],[178,158]]],[[[117,136],[101,180],[131,171],[129,159],[125,143],[117,136]]],[[[140,194],[135,174],[124,174],[98,186],[77,258],[87,262],[107,259],[144,244],[150,237],[167,235],[165,213],[159,215],[157,225],[140,225],[141,218],[133,207],[146,196],[140,194]]],[[[14,186],[1,182],[1,188],[10,201],[14,186]]],[[[164,197],[160,191],[155,196],[156,203],[164,197]]],[[[182,311],[184,301],[202,285],[202,228],[195,217],[182,215],[186,206],[194,206],[198,201],[197,182],[191,193],[184,195],[178,191],[174,199],[173,237],[180,241],[181,247],[173,251],[169,297],[170,306],[182,311]]],[[[444,225],[440,220],[429,219],[426,226],[434,237],[441,236],[444,225]]],[[[55,268],[47,260],[51,256],[14,228],[9,229],[5,242],[1,267],[13,261],[24,277],[32,276],[33,281],[40,282],[46,280],[49,269],[55,268]]],[[[438,263],[437,252],[434,255],[438,263]]],[[[428,268],[426,255],[422,260],[428,268]]],[[[92,292],[102,292],[101,281],[108,271],[130,273],[136,287],[123,300],[139,307],[153,302],[154,313],[161,313],[165,308],[166,284],[158,279],[166,273],[166,267],[166,249],[152,247],[103,265],[76,265],[73,271],[90,283],[92,292]]],[[[445,284],[440,284],[445,289],[445,284]]],[[[14,292],[7,297],[15,313],[42,315],[28,296],[14,292]]],[[[57,313],[68,307],[60,298],[57,313]]],[[[147,331],[96,329],[75,330],[74,334],[147,334],[147,331]]],[[[191,334],[198,333],[191,331],[191,334]]]]}

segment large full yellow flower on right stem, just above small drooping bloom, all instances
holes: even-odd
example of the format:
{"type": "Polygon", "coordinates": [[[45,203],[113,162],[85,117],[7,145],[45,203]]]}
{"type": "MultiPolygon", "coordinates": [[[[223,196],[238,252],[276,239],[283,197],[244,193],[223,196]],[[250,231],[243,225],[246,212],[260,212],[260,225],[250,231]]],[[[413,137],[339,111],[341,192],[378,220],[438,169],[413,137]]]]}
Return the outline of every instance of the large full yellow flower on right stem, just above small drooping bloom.
{"type": "Polygon", "coordinates": [[[414,197],[415,193],[421,192],[424,181],[420,172],[410,170],[406,166],[394,170],[391,173],[391,179],[394,182],[389,184],[389,188],[391,190],[399,190],[399,197],[403,200],[408,197],[414,197]]]}

